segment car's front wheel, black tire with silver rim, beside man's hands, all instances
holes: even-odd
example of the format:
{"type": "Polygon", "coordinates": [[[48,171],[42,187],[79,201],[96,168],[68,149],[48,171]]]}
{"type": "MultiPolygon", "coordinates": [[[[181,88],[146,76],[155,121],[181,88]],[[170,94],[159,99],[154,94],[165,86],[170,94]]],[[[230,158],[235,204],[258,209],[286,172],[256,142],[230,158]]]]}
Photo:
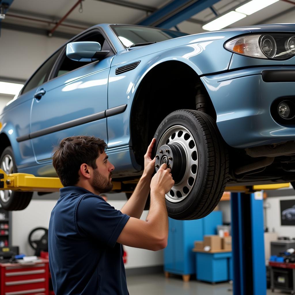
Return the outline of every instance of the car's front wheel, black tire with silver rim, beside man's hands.
{"type": "Polygon", "coordinates": [[[186,162],[176,173],[172,166],[175,184],[165,196],[168,216],[180,220],[207,216],[222,197],[229,169],[227,147],[216,122],[203,112],[181,109],[165,117],[154,137],[155,152],[161,159],[161,146],[178,144],[186,162]]]}

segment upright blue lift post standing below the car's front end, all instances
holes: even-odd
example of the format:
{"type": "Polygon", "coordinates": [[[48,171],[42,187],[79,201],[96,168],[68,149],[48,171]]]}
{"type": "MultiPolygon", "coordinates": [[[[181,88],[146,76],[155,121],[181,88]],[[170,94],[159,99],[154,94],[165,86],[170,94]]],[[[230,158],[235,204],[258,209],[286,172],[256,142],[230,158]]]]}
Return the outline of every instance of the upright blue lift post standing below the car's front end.
{"type": "Polygon", "coordinates": [[[233,294],[265,295],[263,193],[231,193],[233,294]]]}

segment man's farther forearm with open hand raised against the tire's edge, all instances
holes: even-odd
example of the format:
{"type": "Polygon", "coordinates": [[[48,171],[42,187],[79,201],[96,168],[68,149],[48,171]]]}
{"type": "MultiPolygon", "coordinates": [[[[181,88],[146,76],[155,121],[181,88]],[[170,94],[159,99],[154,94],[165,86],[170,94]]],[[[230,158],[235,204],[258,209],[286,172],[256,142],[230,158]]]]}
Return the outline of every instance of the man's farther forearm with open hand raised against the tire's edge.
{"type": "Polygon", "coordinates": [[[152,150],[155,144],[155,138],[148,146],[148,150],[144,156],[145,168],[143,174],[137,183],[137,186],[126,204],[121,209],[121,212],[129,215],[130,217],[140,218],[145,203],[148,199],[148,193],[150,191],[150,181],[152,179],[153,172],[155,170],[155,158],[152,160],[152,150]]]}

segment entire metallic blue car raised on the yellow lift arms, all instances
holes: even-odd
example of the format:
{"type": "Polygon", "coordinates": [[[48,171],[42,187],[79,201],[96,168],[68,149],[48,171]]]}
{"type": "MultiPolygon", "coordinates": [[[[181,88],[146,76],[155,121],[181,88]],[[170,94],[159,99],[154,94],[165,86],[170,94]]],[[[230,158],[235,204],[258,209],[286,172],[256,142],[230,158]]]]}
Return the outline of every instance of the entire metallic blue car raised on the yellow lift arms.
{"type": "MultiPolygon", "coordinates": [[[[21,65],[20,65],[21,66],[21,65]]],[[[100,24],[51,55],[0,115],[6,173],[56,176],[52,150],[73,135],[107,143],[116,191],[133,191],[156,137],[155,169],[175,185],[168,215],[198,219],[225,186],[295,181],[295,24],[187,35],[100,24]]],[[[0,191],[21,210],[32,193],[0,191]]]]}

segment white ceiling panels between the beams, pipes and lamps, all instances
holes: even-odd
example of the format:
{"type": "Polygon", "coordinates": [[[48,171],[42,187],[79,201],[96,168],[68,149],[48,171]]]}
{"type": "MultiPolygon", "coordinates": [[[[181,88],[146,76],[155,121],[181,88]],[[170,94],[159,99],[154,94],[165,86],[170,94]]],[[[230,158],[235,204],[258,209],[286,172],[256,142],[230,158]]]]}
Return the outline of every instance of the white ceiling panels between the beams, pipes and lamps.
{"type": "MultiPolygon", "coordinates": [[[[162,6],[170,2],[169,0],[125,1],[145,6],[151,6],[157,9],[161,8],[162,6]]],[[[283,0],[280,0],[266,7],[265,9],[255,12],[254,14],[247,16],[238,22],[235,22],[230,27],[270,23],[271,20],[276,19],[280,20],[280,22],[295,22],[295,0],[290,1],[293,2],[294,5],[283,0]],[[282,15],[279,18],[277,18],[277,14],[282,15]],[[284,15],[288,17],[284,17],[284,15]]],[[[76,2],[77,0],[14,0],[7,13],[8,15],[6,16],[6,19],[3,22],[50,30],[54,27],[54,22],[57,22],[59,19],[61,19],[73,7],[73,5],[76,4],[76,2]],[[13,17],[12,15],[39,19],[43,20],[43,22],[21,19],[13,17]],[[50,24],[49,22],[52,23],[50,24]]],[[[245,2],[245,0],[221,0],[214,4],[214,9],[218,12],[218,14],[222,14],[235,6],[240,5],[243,2],[245,2]]],[[[57,31],[77,34],[92,24],[135,24],[141,19],[144,19],[148,15],[147,12],[139,9],[124,7],[121,5],[111,4],[99,0],[84,0],[82,1],[82,6],[82,13],[79,12],[80,5],[78,5],[73,10],[73,12],[71,12],[71,14],[67,17],[67,19],[65,19],[65,21],[63,22],[63,24],[65,25],[75,25],[78,26],[78,28],[60,26],[58,27],[57,31]]],[[[213,14],[212,10],[210,8],[207,8],[202,12],[194,15],[192,19],[201,20],[202,22],[208,22],[214,17],[215,15],[213,14]]],[[[191,34],[203,32],[200,24],[196,24],[190,21],[184,21],[178,24],[178,27],[181,31],[188,32],[191,34]]]]}

